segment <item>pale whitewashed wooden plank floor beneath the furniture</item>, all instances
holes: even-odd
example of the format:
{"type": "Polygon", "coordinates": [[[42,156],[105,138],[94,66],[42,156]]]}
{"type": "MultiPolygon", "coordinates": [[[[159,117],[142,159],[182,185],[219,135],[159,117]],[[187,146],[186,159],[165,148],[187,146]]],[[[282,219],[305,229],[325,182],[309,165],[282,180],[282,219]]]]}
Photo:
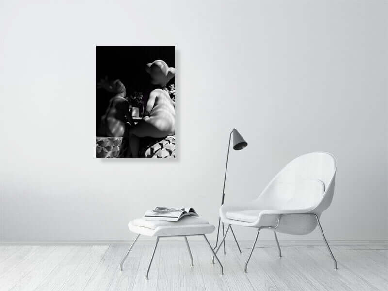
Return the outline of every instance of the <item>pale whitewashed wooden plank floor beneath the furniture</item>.
{"type": "MultiPolygon", "coordinates": [[[[190,238],[189,238],[190,242],[190,238]]],[[[281,242],[280,242],[281,243],[281,242]]],[[[183,241],[161,240],[149,274],[151,242],[139,241],[124,270],[118,266],[129,245],[0,245],[0,291],[120,291],[120,290],[259,290],[259,291],[386,291],[387,243],[332,243],[338,270],[323,243],[258,243],[243,272],[250,251],[241,242],[242,254],[229,242],[224,265],[211,264],[206,242],[191,241],[194,266],[183,241]]]]}

